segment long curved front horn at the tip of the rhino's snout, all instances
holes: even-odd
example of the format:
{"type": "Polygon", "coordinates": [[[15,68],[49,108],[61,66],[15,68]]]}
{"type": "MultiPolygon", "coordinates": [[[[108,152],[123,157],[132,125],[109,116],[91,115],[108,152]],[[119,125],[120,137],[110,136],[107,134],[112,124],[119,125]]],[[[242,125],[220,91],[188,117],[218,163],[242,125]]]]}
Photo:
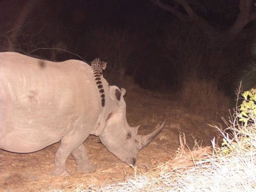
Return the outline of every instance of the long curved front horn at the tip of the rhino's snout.
{"type": "Polygon", "coordinates": [[[161,126],[157,128],[157,130],[153,131],[148,135],[137,135],[136,140],[138,141],[138,144],[137,144],[138,149],[140,150],[143,147],[145,147],[147,144],[149,144],[149,142],[152,141],[152,139],[154,139],[154,137],[156,137],[157,134],[162,130],[162,128],[164,127],[164,124],[165,124],[165,120],[161,124],[161,126]]]}

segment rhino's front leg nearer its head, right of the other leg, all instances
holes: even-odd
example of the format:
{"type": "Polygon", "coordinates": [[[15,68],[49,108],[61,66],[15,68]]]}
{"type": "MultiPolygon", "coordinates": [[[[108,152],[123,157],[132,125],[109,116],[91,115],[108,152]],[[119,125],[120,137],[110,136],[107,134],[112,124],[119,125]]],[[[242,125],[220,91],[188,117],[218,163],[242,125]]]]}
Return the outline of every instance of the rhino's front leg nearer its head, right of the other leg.
{"type": "Polygon", "coordinates": [[[84,145],[80,145],[72,151],[72,155],[77,163],[76,170],[80,173],[91,173],[95,171],[95,166],[89,162],[84,145]]]}

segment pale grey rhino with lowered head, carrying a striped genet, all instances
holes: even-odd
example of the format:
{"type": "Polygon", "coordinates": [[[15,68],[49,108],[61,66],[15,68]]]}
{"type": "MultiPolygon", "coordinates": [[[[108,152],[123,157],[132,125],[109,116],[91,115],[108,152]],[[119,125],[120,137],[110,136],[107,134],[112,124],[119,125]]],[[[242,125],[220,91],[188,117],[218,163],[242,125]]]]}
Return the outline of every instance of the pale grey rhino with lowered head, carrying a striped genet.
{"type": "Polygon", "coordinates": [[[134,165],[139,150],[162,129],[138,135],[138,127],[126,120],[125,89],[105,89],[105,107],[100,104],[92,69],[82,61],[50,62],[19,53],[0,53],[0,148],[31,153],[61,140],[52,175],[68,174],[70,153],[77,171],[93,172],[83,142],[98,135],[120,160],[134,165]]]}

